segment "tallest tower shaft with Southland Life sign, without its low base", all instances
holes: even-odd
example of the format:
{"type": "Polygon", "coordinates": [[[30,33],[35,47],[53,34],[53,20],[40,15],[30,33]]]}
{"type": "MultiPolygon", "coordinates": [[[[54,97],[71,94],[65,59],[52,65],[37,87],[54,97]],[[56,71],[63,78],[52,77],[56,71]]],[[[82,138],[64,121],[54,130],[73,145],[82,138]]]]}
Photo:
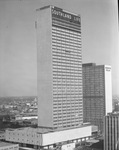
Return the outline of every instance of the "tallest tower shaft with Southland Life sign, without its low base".
{"type": "Polygon", "coordinates": [[[38,126],[83,123],[80,16],[46,6],[37,9],[38,126]]]}

